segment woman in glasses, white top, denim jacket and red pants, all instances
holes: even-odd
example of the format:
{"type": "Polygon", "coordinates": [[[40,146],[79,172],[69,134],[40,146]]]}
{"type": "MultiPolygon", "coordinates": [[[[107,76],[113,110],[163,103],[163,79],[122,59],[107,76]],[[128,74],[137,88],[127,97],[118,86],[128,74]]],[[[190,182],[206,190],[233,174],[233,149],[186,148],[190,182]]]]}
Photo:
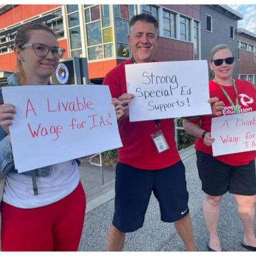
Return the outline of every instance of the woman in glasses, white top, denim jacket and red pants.
{"type": "MultiPolygon", "coordinates": [[[[22,86],[49,84],[65,49],[46,25],[26,23],[17,31],[13,51],[19,73],[9,77],[9,85],[22,86]]],[[[121,117],[123,107],[117,99],[112,103],[117,118],[121,117]]],[[[3,251],[77,251],[85,217],[79,161],[17,173],[9,137],[15,107],[0,104],[0,122],[6,132],[0,133],[0,177],[6,177],[1,203],[3,251]]]]}

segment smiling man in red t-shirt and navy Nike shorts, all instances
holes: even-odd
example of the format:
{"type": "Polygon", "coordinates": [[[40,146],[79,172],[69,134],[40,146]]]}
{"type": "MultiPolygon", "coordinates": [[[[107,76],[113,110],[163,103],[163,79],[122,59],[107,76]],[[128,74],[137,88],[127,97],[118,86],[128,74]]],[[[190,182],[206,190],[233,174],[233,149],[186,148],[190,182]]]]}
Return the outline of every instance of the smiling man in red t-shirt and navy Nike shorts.
{"type": "Polygon", "coordinates": [[[112,97],[125,106],[125,117],[119,122],[123,147],[118,149],[115,213],[107,234],[107,251],[121,251],[125,233],[143,226],[152,191],[159,201],[161,220],[173,222],[186,250],[195,251],[185,168],[173,136],[173,119],[130,122],[128,117],[128,103],[134,95],[127,93],[125,65],[154,61],[158,38],[156,19],[144,13],[135,15],[128,35],[133,57],[111,70],[103,81],[112,97]],[[159,129],[160,139],[165,138],[164,151],[157,151],[152,137],[159,129]]]}

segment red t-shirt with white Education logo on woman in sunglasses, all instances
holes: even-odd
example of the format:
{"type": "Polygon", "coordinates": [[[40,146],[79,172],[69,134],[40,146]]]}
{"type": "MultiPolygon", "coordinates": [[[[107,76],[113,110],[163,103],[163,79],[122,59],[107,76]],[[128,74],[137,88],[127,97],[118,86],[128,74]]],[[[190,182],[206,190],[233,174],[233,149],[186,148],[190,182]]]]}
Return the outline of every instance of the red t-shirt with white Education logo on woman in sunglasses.
{"type": "MultiPolygon", "coordinates": [[[[237,94],[239,99],[239,106],[240,106],[240,113],[245,113],[249,111],[256,111],[256,90],[253,87],[251,83],[245,80],[235,79],[235,85],[237,87],[237,94]],[[242,95],[243,94],[243,95],[242,95]],[[253,102],[252,103],[244,103],[243,98],[246,97],[252,97],[253,102]],[[246,106],[247,105],[247,106],[246,106]]],[[[235,103],[236,95],[235,95],[235,89],[233,86],[225,86],[225,91],[227,91],[227,94],[235,103]]],[[[209,92],[210,97],[218,97],[220,101],[223,101],[225,103],[225,107],[223,110],[223,115],[233,115],[233,107],[231,106],[231,103],[228,101],[227,97],[224,95],[223,91],[219,87],[215,81],[209,82],[209,92]]],[[[211,118],[215,117],[213,115],[205,115],[201,117],[201,128],[205,131],[211,131],[211,118]]],[[[193,120],[193,123],[197,123],[199,119],[193,120]]],[[[195,149],[199,151],[203,151],[209,155],[213,155],[212,147],[207,147],[203,143],[203,139],[197,139],[195,142],[195,149]]],[[[238,165],[247,165],[250,161],[255,159],[255,152],[256,151],[248,151],[248,152],[242,152],[242,153],[234,153],[229,155],[219,155],[215,157],[219,161],[223,163],[227,163],[228,165],[238,166],[238,165]]]]}

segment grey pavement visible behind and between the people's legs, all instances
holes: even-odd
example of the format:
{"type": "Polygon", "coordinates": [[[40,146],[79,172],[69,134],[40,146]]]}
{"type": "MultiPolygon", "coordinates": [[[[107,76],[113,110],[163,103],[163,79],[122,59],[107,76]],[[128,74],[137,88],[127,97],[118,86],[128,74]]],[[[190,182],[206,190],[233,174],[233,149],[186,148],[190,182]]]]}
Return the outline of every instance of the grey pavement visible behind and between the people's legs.
{"type": "MultiPolygon", "coordinates": [[[[195,150],[193,147],[189,147],[181,150],[180,155],[186,167],[189,210],[197,251],[207,251],[209,235],[202,213],[203,192],[197,174],[195,150]]],[[[81,180],[85,186],[88,203],[79,251],[105,251],[107,229],[112,221],[114,210],[115,171],[114,169],[104,170],[106,173],[104,186],[101,186],[99,167],[93,167],[90,171],[86,171],[82,167],[81,173],[86,172],[88,172],[87,175],[84,175],[81,180]],[[93,175],[97,176],[98,179],[95,180],[93,175]],[[91,180],[87,181],[89,178],[91,180]]],[[[224,251],[247,251],[240,245],[243,239],[243,228],[237,216],[237,206],[233,195],[226,194],[223,197],[219,237],[224,251]]],[[[177,235],[173,223],[163,223],[160,220],[158,202],[154,196],[151,196],[144,226],[136,232],[127,233],[123,251],[184,250],[183,243],[177,235]]]]}

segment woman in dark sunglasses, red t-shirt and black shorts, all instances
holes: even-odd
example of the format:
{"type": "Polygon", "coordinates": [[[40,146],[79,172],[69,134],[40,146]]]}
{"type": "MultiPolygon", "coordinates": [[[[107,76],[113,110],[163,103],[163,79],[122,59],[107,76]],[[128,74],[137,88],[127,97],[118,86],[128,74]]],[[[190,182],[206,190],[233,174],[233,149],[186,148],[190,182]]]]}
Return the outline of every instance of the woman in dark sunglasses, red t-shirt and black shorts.
{"type": "MultiPolygon", "coordinates": [[[[210,97],[218,97],[225,103],[223,115],[256,111],[256,90],[245,80],[233,79],[235,57],[227,45],[217,45],[211,50],[209,67],[214,79],[209,82],[210,97]],[[250,102],[245,103],[243,97],[250,102]]],[[[256,251],[255,238],[255,151],[213,157],[211,145],[211,119],[184,119],[183,127],[197,137],[195,149],[197,168],[205,192],[203,215],[209,231],[209,251],[221,251],[218,236],[219,211],[222,196],[229,191],[235,195],[238,214],[243,224],[241,246],[256,251]],[[199,124],[200,125],[197,125],[199,124]]]]}

